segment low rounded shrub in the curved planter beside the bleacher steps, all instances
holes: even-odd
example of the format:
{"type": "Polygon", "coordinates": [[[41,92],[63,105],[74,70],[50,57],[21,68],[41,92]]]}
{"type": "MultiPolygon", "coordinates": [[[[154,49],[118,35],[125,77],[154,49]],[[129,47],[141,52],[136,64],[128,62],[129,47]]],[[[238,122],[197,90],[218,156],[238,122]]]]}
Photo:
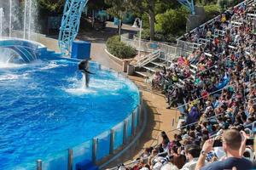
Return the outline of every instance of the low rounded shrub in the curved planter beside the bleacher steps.
{"type": "Polygon", "coordinates": [[[109,37],[106,42],[108,52],[119,59],[130,59],[137,54],[136,48],[119,41],[119,36],[109,37]]]}

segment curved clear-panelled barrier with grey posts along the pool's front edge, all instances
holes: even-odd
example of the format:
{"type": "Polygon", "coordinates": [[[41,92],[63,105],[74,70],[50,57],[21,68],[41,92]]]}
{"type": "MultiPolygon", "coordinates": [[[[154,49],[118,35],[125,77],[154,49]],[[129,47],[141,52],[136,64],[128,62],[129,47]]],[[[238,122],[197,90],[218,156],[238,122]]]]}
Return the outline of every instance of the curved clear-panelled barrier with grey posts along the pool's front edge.
{"type": "Polygon", "coordinates": [[[102,159],[129,143],[131,138],[134,137],[141,124],[140,108],[141,105],[137,105],[123,122],[119,122],[119,124],[99,134],[94,139],[49,156],[46,160],[38,160],[37,169],[84,169],[86,166],[92,165],[91,162],[102,161],[102,159]]]}

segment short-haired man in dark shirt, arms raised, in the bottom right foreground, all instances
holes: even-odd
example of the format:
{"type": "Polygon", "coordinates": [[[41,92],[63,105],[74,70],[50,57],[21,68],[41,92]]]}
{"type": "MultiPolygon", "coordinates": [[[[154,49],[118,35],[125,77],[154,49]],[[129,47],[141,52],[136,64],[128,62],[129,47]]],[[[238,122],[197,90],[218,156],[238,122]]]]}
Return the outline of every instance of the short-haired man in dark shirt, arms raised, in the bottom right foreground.
{"type": "Polygon", "coordinates": [[[242,139],[242,136],[244,135],[236,129],[224,131],[222,141],[226,158],[223,161],[214,161],[205,166],[207,153],[212,150],[214,143],[213,139],[208,139],[205,144],[203,144],[201,155],[196,163],[195,170],[223,170],[232,169],[233,167],[236,167],[236,170],[252,169],[253,162],[242,157],[241,154],[241,152],[243,153],[244,151],[244,145],[246,143],[246,138],[242,139]]]}

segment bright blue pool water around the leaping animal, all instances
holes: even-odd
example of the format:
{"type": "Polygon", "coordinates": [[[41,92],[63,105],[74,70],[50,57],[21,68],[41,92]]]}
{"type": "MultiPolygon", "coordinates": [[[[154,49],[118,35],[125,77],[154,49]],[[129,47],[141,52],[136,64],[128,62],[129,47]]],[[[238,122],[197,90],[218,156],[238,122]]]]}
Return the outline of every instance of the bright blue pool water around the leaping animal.
{"type": "Polygon", "coordinates": [[[96,74],[84,89],[77,68],[68,59],[0,64],[0,169],[30,169],[38,158],[95,137],[137,107],[130,81],[91,63],[96,74]]]}

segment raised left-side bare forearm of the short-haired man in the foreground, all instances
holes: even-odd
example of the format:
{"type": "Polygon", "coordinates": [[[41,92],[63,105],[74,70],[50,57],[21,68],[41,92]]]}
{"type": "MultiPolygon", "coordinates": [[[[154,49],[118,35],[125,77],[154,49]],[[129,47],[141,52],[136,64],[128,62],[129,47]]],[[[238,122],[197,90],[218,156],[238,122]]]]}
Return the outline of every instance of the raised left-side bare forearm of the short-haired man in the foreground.
{"type": "Polygon", "coordinates": [[[199,156],[199,159],[196,163],[195,170],[201,170],[201,167],[205,166],[205,161],[207,158],[207,153],[209,153],[212,150],[214,140],[213,139],[207,139],[205,144],[202,147],[201,154],[199,156]]]}

